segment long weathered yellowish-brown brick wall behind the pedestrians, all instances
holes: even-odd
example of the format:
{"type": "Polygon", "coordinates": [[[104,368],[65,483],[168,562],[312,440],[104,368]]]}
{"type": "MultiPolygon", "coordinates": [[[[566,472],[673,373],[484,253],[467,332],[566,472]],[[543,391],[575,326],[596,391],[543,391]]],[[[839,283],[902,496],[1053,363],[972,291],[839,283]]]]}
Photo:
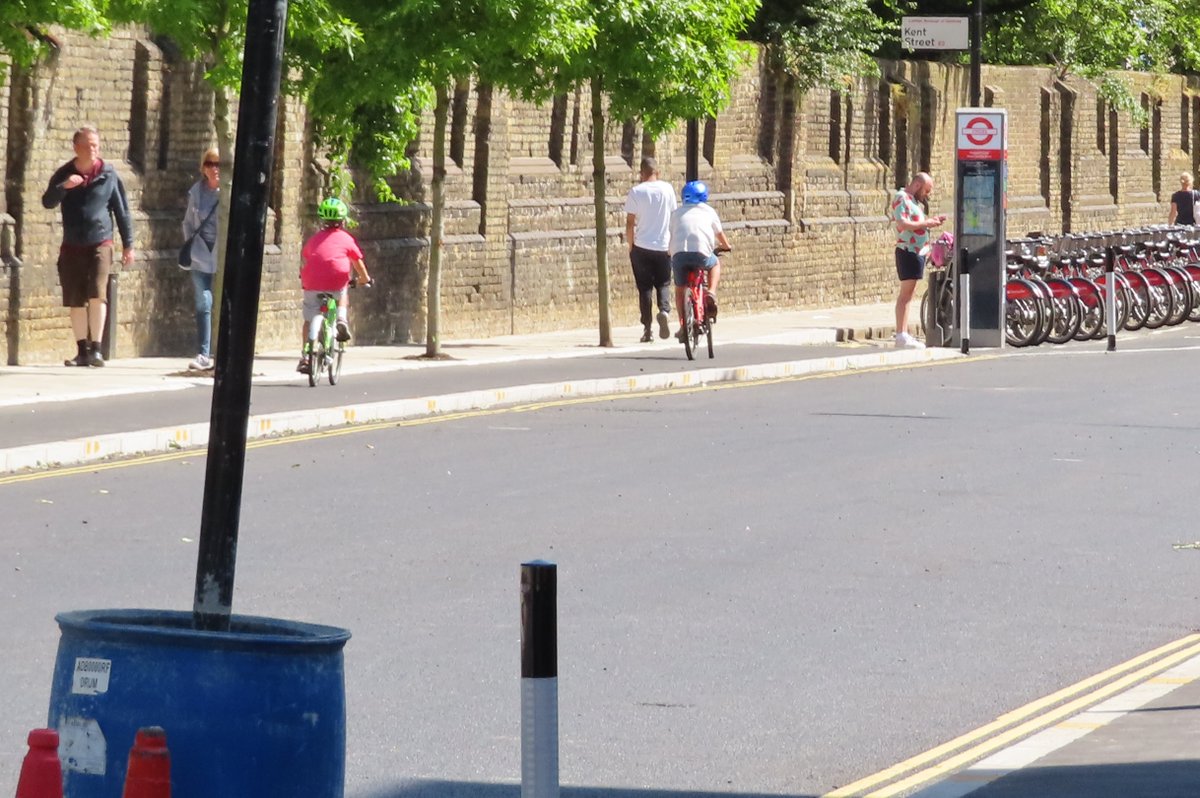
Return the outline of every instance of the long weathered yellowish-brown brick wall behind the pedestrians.
{"type": "MultiPolygon", "coordinates": [[[[16,220],[24,263],[19,295],[0,280],[8,308],[8,360],[49,362],[71,347],[54,258],[58,211],[41,206],[52,172],[71,157],[71,134],[96,125],[102,155],[126,181],[138,260],[120,277],[118,354],[192,352],[191,286],[174,265],[185,192],[215,140],[203,71],[136,29],[108,40],[64,34],[61,49],[0,82],[0,211],[16,220]]],[[[748,65],[728,108],[702,121],[701,178],[736,252],[722,278],[737,312],[865,304],[894,290],[888,197],[917,169],[937,179],[935,211],[953,204],[954,109],[967,71],[881,62],[880,79],[796,98],[762,64],[748,65]]],[[[1110,114],[1084,80],[1034,67],[983,70],[985,104],[1009,112],[1009,230],[1097,229],[1165,221],[1177,174],[1200,166],[1195,78],[1128,73],[1152,120],[1147,130],[1110,114]]],[[[234,107],[236,103],[234,103],[234,107]]],[[[448,134],[446,254],[442,338],[596,324],[590,98],[587,89],[535,107],[460,86],[448,134]]],[[[432,114],[426,116],[431,121],[432,114]]],[[[324,163],[302,106],[280,107],[258,331],[259,349],[298,337],[299,251],[313,229],[324,163]]],[[[392,185],[408,203],[355,197],[355,230],[377,277],[352,299],[362,343],[422,341],[430,235],[430,137],[413,170],[392,185]]],[[[605,134],[612,322],[634,323],[637,302],[625,254],[624,196],[643,152],[683,181],[684,134],[649,140],[626,120],[605,134]]]]}

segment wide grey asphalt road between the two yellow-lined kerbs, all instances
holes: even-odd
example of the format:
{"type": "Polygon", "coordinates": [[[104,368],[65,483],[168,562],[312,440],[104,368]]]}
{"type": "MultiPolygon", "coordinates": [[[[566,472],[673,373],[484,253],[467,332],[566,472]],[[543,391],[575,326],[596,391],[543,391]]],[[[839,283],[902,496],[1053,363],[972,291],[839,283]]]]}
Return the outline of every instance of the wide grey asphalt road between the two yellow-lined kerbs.
{"type": "MultiPolygon", "coordinates": [[[[235,611],[354,632],[348,796],[515,798],[550,559],[565,794],[820,796],[1196,628],[1196,343],[271,442],[235,611]]],[[[0,480],[0,793],[55,612],[191,607],[203,472],[0,480]]]]}

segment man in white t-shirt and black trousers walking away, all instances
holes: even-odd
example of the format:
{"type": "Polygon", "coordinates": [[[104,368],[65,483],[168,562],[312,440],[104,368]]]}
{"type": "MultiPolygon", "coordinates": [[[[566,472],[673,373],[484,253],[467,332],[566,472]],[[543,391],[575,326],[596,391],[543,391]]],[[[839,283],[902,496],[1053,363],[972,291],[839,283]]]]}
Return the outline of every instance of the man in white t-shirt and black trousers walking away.
{"type": "Polygon", "coordinates": [[[642,343],[654,340],[650,332],[650,311],[654,296],[659,300],[659,337],[671,335],[671,211],[676,209],[674,188],[659,180],[659,164],[654,158],[642,158],[642,181],[634,186],[625,199],[625,242],[629,262],[637,283],[637,305],[642,313],[642,343]]]}

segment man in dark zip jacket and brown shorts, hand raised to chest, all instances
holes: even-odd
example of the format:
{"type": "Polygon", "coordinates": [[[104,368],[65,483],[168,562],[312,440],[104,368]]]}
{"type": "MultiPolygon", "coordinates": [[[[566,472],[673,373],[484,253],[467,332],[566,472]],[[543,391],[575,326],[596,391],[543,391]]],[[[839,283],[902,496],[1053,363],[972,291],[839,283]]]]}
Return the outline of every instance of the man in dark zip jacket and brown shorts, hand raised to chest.
{"type": "Polygon", "coordinates": [[[71,312],[77,353],[67,366],[103,366],[100,340],[104,331],[108,270],[113,264],[113,220],[121,233],[121,263],[133,263],[133,223],[125,185],[113,164],[100,158],[100,133],[80,127],[74,138],[76,157],[50,178],[42,194],[47,209],[62,208],[62,246],[59,282],[62,306],[71,312]]]}

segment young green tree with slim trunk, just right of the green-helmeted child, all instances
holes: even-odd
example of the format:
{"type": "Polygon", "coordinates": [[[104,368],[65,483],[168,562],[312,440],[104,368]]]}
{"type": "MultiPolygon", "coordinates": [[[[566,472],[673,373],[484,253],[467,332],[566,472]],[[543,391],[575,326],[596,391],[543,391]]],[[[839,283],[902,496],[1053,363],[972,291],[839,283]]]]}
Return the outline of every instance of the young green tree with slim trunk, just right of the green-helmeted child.
{"type": "MultiPolygon", "coordinates": [[[[422,106],[433,102],[426,356],[440,354],[445,133],[456,85],[494,85],[529,100],[550,96],[552,76],[590,35],[586,0],[346,0],[361,41],[326,59],[311,108],[324,144],[376,178],[407,166],[422,106]],[[397,35],[406,31],[407,35],[397,35]]],[[[427,106],[426,106],[427,107],[427,106]]]]}

